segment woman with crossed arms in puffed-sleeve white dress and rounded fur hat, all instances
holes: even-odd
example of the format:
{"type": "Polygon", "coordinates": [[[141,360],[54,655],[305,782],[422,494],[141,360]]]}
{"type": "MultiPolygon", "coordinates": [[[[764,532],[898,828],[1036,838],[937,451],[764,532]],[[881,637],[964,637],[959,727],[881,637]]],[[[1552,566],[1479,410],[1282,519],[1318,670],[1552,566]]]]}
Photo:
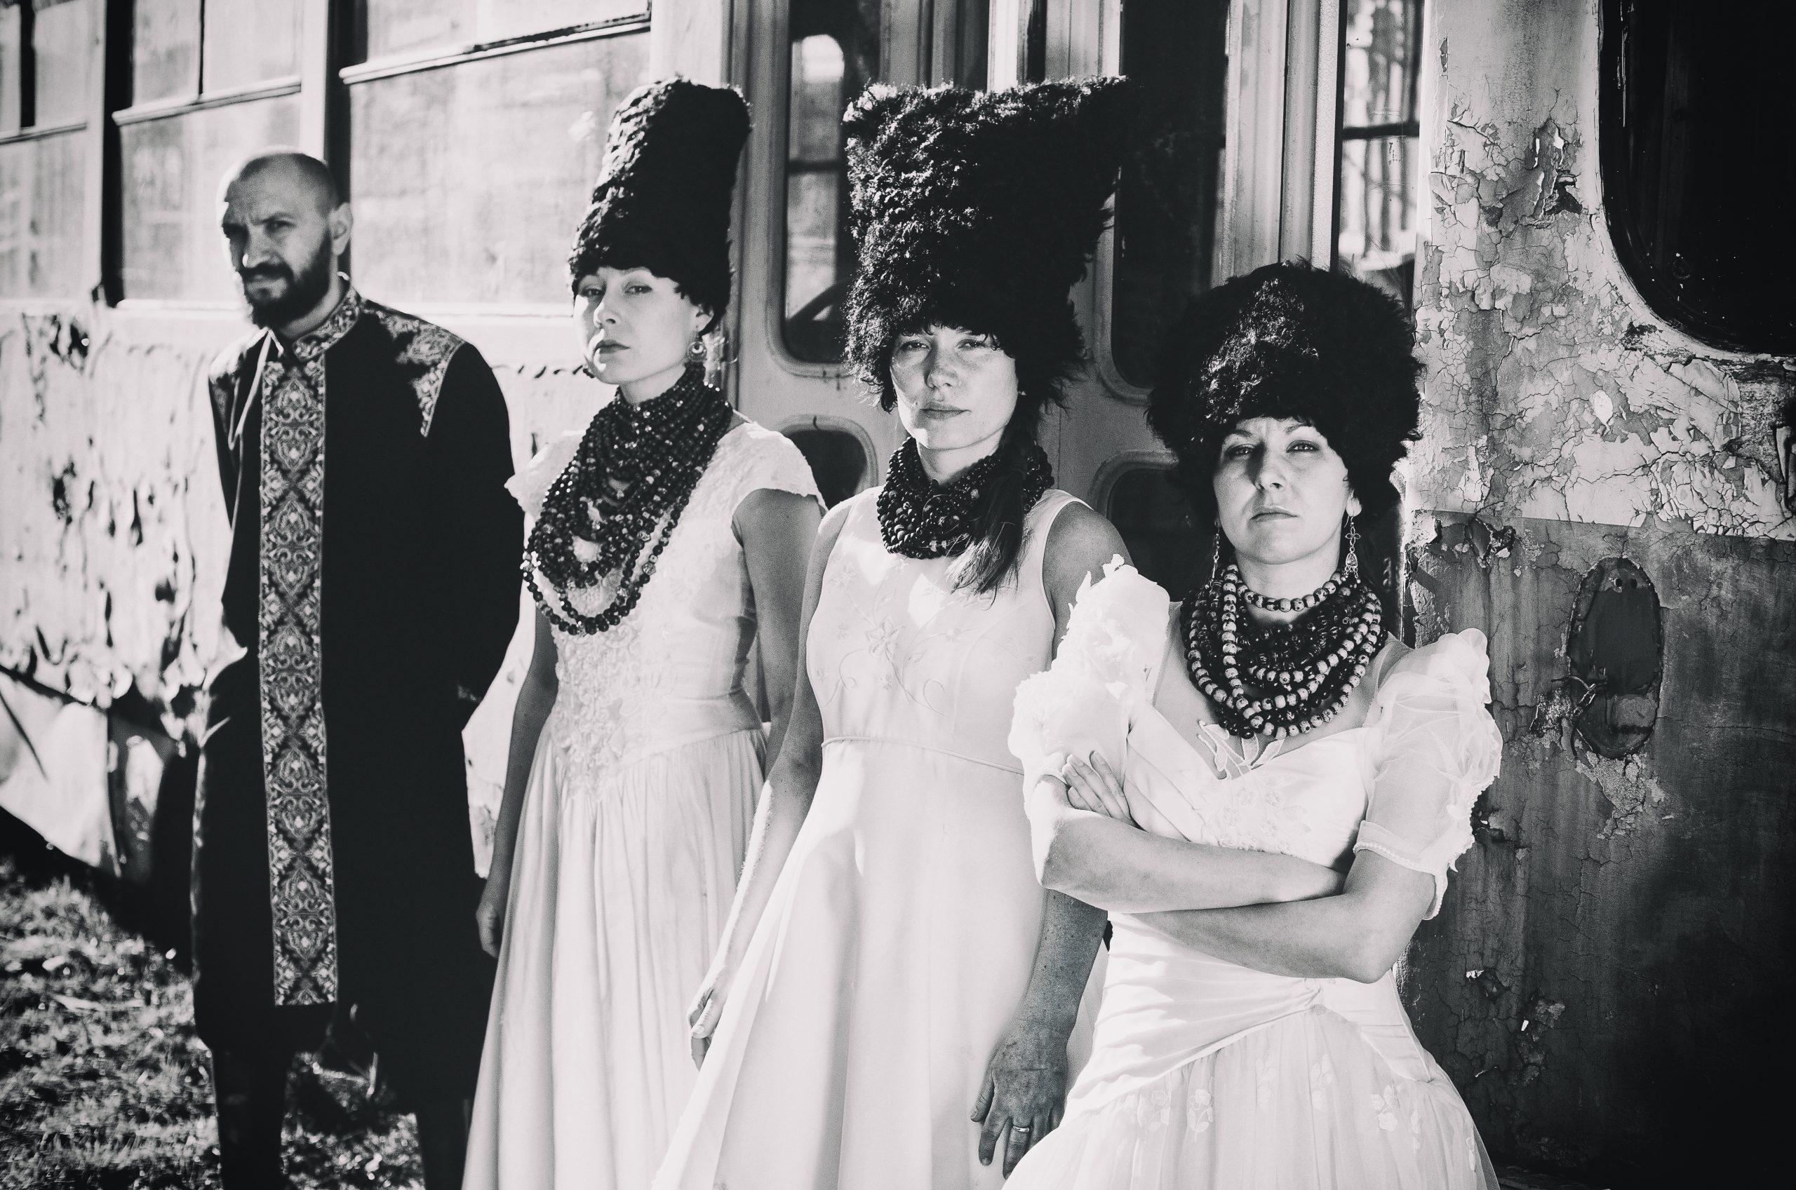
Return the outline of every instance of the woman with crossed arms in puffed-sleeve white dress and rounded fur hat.
{"type": "Polygon", "coordinates": [[[1011,1190],[1496,1188],[1392,975],[1501,754],[1483,635],[1412,652],[1358,578],[1415,373],[1403,311],[1307,266],[1176,327],[1149,420],[1234,565],[1182,605],[1108,567],[1018,691],[1042,879],[1115,935],[1092,1061],[1011,1190]],[[1290,856],[1345,881],[1264,890],[1290,856]]]}

